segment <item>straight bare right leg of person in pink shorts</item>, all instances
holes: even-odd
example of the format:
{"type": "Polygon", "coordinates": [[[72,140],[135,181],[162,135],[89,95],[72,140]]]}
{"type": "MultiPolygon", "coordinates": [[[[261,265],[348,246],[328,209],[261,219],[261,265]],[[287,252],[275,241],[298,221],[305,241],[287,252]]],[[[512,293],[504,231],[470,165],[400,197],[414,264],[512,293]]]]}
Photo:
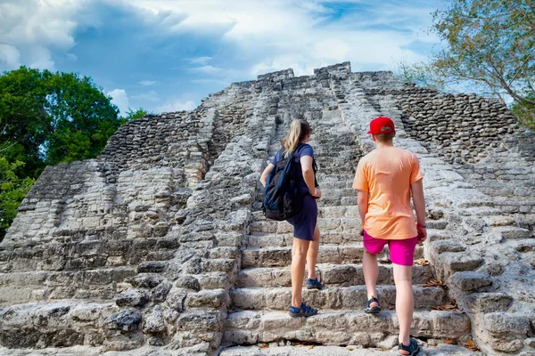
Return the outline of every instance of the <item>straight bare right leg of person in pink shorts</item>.
{"type": "MultiPolygon", "coordinates": [[[[396,282],[396,313],[399,320],[399,344],[408,345],[410,325],[413,321],[415,298],[412,289],[412,266],[394,266],[394,281],[396,282]]],[[[407,352],[399,351],[407,354],[407,352]]]]}

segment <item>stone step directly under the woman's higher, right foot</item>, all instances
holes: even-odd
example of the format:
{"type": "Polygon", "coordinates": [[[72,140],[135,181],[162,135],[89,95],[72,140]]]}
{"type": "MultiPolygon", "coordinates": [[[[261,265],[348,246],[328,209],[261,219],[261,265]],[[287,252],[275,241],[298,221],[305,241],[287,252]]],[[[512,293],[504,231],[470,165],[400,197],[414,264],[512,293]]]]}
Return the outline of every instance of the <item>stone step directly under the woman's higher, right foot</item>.
{"type": "MultiPolygon", "coordinates": [[[[447,294],[442,287],[413,287],[416,309],[431,309],[446,302],[447,294]]],[[[381,308],[391,310],[396,305],[396,287],[377,286],[381,308]]],[[[231,305],[235,310],[285,311],[292,302],[291,287],[249,287],[230,291],[231,305]]],[[[361,310],[367,301],[366,286],[324,287],[322,290],[303,289],[303,300],[319,309],[361,310]]]]}

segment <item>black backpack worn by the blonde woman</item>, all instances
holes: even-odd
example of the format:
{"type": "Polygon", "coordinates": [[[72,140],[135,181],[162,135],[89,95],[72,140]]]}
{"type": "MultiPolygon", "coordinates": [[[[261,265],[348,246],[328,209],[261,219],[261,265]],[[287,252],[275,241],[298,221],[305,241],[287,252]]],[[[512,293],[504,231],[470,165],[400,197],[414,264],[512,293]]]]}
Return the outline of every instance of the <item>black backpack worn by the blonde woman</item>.
{"type": "Polygon", "coordinates": [[[300,213],[301,197],[293,166],[293,152],[281,158],[268,175],[262,209],[268,219],[283,221],[300,213]]]}

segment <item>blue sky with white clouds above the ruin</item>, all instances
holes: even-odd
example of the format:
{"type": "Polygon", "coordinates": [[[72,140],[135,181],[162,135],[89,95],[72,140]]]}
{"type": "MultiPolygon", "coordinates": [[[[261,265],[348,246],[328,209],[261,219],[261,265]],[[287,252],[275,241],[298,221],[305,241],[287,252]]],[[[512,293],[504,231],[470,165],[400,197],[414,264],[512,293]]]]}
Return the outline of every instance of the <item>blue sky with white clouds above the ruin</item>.
{"type": "Polygon", "coordinates": [[[122,112],[193,109],[230,83],[424,61],[439,0],[0,0],[0,72],[92,77],[122,112]]]}

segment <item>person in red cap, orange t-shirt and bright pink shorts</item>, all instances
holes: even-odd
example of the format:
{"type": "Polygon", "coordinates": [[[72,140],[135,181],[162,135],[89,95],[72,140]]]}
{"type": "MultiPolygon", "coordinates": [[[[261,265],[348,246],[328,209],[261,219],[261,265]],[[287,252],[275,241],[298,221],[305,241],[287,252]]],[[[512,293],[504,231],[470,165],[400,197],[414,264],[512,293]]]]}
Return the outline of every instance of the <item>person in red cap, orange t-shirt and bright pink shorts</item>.
{"type": "Polygon", "coordinates": [[[413,321],[412,266],[418,242],[427,238],[423,176],[416,155],[394,147],[394,123],[376,117],[370,123],[376,149],[358,162],[353,188],[358,190],[360,231],[364,240],[363,270],[368,301],[365,312],[380,312],[375,284],[379,274],[377,254],[388,244],[396,283],[399,320],[399,354],[416,355],[420,346],[409,336],[413,321]],[[416,219],[410,206],[412,194],[416,219]]]}

